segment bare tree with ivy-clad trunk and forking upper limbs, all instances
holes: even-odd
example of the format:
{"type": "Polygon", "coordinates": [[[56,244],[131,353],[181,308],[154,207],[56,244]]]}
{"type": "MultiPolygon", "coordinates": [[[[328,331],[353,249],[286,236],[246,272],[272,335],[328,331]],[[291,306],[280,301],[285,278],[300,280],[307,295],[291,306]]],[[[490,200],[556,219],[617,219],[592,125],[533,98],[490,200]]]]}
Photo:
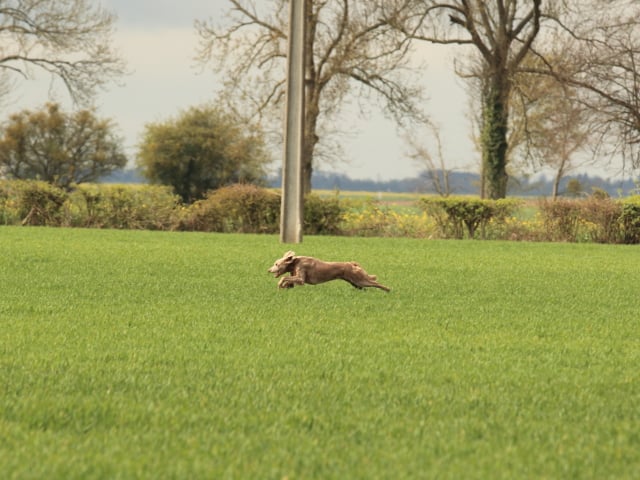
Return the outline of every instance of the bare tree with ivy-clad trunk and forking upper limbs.
{"type": "Polygon", "coordinates": [[[483,194],[490,198],[504,197],[513,77],[540,32],[542,0],[397,0],[393,3],[395,16],[388,15],[387,19],[408,38],[469,45],[481,59],[472,75],[482,80],[483,194]]]}

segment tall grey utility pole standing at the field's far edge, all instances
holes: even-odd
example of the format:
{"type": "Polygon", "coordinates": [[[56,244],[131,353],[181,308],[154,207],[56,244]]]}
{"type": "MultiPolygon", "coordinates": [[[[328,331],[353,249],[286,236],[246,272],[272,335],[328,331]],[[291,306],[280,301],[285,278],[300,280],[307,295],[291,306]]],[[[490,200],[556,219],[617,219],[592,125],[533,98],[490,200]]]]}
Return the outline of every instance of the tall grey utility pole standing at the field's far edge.
{"type": "Polygon", "coordinates": [[[289,2],[289,55],[287,57],[287,110],[285,113],[284,165],[280,241],[302,241],[302,152],[304,144],[304,47],[306,0],[289,2]]]}

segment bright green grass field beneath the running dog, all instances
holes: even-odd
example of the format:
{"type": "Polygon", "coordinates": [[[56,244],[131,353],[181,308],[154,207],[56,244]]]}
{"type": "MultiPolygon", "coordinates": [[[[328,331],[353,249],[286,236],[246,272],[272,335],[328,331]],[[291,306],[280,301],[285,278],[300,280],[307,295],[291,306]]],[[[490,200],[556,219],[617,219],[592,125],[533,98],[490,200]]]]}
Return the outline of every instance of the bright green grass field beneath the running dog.
{"type": "Polygon", "coordinates": [[[6,479],[632,479],[640,249],[0,228],[6,479]]]}

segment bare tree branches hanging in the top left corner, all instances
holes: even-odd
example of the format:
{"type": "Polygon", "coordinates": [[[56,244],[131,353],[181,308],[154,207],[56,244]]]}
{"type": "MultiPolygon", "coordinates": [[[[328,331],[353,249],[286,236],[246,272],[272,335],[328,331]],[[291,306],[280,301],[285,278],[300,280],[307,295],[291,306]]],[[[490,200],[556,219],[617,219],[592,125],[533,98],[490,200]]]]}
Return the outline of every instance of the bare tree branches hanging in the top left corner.
{"type": "Polygon", "coordinates": [[[74,101],[124,73],[110,46],[115,16],[90,0],[0,2],[0,71],[30,78],[44,71],[60,79],[74,101]]]}

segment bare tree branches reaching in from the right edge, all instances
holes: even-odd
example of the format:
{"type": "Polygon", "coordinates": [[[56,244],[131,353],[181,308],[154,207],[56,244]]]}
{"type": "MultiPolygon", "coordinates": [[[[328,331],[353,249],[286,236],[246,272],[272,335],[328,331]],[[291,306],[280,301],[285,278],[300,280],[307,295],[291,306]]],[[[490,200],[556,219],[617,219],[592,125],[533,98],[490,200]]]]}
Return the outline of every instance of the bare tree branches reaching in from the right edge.
{"type": "MultiPolygon", "coordinates": [[[[640,167],[640,4],[574,0],[553,16],[554,57],[529,73],[571,86],[596,118],[598,139],[640,167]]],[[[545,58],[540,55],[540,58],[545,58]]]]}

